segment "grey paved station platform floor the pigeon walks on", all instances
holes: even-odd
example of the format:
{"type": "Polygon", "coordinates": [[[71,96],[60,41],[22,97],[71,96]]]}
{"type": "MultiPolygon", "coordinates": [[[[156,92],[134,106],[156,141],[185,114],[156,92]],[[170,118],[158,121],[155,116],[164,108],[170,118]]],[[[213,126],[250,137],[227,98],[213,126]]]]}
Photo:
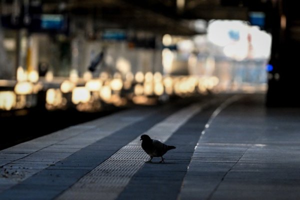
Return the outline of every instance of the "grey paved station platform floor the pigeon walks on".
{"type": "Polygon", "coordinates": [[[0,199],[299,199],[300,108],[264,97],[130,108],[3,149],[0,199]],[[141,134],[176,148],[145,162],[141,134]]]}

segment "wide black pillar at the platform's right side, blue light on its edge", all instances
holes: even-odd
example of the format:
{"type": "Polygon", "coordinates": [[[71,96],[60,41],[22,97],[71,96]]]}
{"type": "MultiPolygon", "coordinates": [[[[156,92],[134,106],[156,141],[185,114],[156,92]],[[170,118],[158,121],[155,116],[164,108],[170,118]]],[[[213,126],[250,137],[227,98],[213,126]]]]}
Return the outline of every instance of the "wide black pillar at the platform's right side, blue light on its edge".
{"type": "MultiPolygon", "coordinates": [[[[273,1],[274,2],[274,1],[273,1]]],[[[300,2],[277,0],[272,12],[272,53],[269,72],[267,106],[300,106],[297,94],[300,80],[300,2]],[[285,15],[286,27],[280,26],[285,15]]]]}

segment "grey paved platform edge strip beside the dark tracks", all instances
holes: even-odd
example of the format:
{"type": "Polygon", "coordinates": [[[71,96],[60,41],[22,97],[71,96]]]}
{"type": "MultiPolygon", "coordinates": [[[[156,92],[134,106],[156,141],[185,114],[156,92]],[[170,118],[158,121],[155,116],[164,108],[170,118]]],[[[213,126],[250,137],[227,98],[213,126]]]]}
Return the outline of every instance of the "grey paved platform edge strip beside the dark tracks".
{"type": "Polygon", "coordinates": [[[120,111],[1,150],[0,192],[154,111],[154,109],[120,111]],[[146,114],[141,116],[140,113],[144,112],[146,114]]]}

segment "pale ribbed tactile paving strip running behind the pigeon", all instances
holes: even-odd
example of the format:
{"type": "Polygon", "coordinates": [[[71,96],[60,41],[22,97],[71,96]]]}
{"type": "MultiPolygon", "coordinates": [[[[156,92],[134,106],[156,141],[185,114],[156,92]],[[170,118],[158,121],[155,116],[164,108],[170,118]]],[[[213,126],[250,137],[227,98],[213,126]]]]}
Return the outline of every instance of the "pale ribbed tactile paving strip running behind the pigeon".
{"type": "MultiPolygon", "coordinates": [[[[183,108],[143,134],[164,142],[205,105],[193,104],[183,108]]],[[[140,147],[139,138],[120,148],[56,199],[115,199],[133,174],[149,159],[140,147]]]]}

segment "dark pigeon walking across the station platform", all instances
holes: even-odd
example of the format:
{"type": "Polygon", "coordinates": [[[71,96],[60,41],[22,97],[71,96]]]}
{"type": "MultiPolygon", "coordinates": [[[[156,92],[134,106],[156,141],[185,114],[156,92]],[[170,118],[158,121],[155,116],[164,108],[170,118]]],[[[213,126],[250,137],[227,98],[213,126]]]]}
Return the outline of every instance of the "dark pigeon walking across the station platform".
{"type": "Polygon", "coordinates": [[[164,162],[162,155],[166,153],[166,151],[176,148],[175,146],[166,145],[156,139],[151,139],[147,134],[142,134],[140,140],[142,140],[142,149],[150,156],[147,162],[151,162],[153,157],[161,157],[159,162],[164,162]]]}

